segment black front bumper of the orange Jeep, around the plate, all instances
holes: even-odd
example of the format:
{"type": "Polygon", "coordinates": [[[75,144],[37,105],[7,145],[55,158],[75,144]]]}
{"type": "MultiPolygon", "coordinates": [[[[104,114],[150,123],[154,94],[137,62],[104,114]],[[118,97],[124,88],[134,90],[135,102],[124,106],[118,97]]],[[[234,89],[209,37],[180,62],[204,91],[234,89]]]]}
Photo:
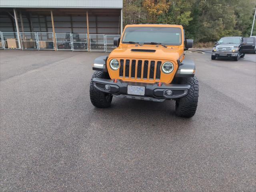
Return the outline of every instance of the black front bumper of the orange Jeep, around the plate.
{"type": "Polygon", "coordinates": [[[165,84],[165,83],[139,83],[139,82],[124,82],[122,80],[109,80],[101,78],[92,79],[93,86],[100,91],[113,94],[117,97],[126,97],[143,100],[162,101],[164,99],[180,98],[188,94],[190,85],[184,84],[165,84]],[[108,85],[109,90],[105,90],[105,85],[108,85]],[[144,95],[132,95],[127,93],[127,86],[144,86],[144,95]],[[167,96],[166,91],[171,90],[172,95],[167,96]]]}

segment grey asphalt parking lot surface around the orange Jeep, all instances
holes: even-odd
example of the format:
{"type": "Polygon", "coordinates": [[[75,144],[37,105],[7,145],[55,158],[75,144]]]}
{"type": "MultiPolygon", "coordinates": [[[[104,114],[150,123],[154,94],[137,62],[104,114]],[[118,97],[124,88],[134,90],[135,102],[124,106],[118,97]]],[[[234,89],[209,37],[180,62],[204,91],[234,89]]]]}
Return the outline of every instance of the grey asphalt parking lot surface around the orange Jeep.
{"type": "Polygon", "coordinates": [[[0,50],[1,191],[256,190],[255,55],[188,52],[200,92],[186,119],[174,101],[94,108],[104,54],[0,50]]]}

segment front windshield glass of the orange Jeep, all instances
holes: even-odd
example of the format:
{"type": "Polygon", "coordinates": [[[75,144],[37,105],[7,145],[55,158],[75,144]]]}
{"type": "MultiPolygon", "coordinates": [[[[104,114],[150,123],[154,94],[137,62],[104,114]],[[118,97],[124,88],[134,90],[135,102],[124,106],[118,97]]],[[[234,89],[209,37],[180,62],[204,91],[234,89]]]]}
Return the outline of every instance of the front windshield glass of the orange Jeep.
{"type": "Polygon", "coordinates": [[[124,31],[122,43],[128,42],[181,45],[182,34],[181,29],[176,27],[128,27],[124,31]]]}

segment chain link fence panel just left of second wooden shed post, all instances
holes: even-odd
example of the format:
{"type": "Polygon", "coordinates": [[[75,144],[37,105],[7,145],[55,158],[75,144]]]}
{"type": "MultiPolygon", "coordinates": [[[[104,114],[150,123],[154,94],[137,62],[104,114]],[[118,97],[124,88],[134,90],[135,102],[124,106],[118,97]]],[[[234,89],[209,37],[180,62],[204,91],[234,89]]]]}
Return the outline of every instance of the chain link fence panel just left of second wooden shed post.
{"type": "Polygon", "coordinates": [[[54,50],[52,32],[36,32],[38,40],[38,50],[54,50]]]}

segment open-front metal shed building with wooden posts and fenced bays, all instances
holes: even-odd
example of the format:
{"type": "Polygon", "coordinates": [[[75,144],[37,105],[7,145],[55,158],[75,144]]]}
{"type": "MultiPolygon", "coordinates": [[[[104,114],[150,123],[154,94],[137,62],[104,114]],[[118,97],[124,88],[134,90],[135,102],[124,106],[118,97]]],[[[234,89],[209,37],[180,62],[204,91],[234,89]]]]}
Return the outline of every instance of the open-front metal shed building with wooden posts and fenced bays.
{"type": "Polygon", "coordinates": [[[0,48],[110,52],[122,0],[0,0],[0,48]]]}

